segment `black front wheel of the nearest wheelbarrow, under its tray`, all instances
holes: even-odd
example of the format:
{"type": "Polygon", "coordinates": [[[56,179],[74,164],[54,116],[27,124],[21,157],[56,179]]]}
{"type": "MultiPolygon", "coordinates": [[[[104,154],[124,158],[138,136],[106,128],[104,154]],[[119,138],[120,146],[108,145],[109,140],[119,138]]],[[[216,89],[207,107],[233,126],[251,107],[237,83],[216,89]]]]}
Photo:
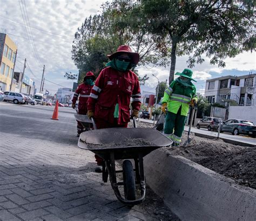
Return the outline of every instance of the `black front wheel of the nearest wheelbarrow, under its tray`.
{"type": "Polygon", "coordinates": [[[136,199],[136,184],[132,163],[130,160],[123,162],[124,195],[127,200],[136,199]]]}

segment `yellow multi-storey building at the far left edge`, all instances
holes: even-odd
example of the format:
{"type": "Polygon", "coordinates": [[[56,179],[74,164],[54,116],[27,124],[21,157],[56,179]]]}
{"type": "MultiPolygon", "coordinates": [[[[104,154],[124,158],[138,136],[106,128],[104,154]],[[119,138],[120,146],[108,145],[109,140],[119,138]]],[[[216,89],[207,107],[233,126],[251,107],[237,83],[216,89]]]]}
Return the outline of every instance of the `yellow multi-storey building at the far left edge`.
{"type": "MultiPolygon", "coordinates": [[[[16,59],[17,45],[7,34],[0,33],[0,90],[11,90],[11,79],[16,59]]],[[[15,89],[15,85],[12,86],[15,89]]]]}

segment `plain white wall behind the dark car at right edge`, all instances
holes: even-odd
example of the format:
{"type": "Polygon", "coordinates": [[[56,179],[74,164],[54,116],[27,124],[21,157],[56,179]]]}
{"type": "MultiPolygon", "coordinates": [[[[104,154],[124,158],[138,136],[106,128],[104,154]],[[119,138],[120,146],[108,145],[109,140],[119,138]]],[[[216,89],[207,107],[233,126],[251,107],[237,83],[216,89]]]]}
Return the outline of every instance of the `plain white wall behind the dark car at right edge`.
{"type": "Polygon", "coordinates": [[[256,106],[230,106],[228,119],[250,120],[256,125],[256,106]]]}

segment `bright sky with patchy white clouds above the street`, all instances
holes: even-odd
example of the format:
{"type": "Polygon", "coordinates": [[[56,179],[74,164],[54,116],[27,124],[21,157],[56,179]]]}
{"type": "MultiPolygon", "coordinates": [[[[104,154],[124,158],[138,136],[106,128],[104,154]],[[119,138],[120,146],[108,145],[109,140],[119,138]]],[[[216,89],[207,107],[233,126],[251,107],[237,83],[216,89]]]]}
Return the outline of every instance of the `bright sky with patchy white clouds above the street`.
{"type": "MultiPolygon", "coordinates": [[[[45,65],[44,89],[55,94],[58,88],[72,88],[73,81],[64,78],[66,72],[78,73],[71,59],[72,41],[77,28],[90,15],[100,13],[103,0],[0,0],[0,32],[5,31],[18,46],[15,72],[22,72],[28,61],[25,75],[40,88],[45,65]]],[[[177,57],[176,72],[187,68],[188,55],[177,57]]],[[[210,60],[196,65],[193,77],[197,91],[204,92],[205,81],[225,75],[256,73],[255,52],[245,52],[225,59],[226,67],[210,65],[210,60]]],[[[155,91],[158,80],[168,79],[170,67],[140,66],[139,75],[150,77],[142,91],[155,91]],[[152,76],[154,74],[156,77],[152,76]]]]}

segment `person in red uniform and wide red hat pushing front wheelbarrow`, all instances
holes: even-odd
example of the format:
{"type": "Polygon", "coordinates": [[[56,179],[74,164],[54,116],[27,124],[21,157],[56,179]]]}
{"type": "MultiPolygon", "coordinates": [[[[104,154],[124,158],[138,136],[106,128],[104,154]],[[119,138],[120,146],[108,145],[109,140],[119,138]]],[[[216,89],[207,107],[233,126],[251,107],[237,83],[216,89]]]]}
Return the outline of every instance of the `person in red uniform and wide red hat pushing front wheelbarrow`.
{"type": "MultiPolygon", "coordinates": [[[[132,117],[138,117],[140,109],[140,87],[138,77],[131,68],[139,62],[139,54],[127,45],[107,55],[110,62],[100,72],[88,99],[88,117],[94,117],[97,129],[127,127],[130,122],[130,100],[132,117]]],[[[95,155],[98,165],[103,159],[95,155]]],[[[101,167],[96,168],[101,172],[101,167]]]]}

